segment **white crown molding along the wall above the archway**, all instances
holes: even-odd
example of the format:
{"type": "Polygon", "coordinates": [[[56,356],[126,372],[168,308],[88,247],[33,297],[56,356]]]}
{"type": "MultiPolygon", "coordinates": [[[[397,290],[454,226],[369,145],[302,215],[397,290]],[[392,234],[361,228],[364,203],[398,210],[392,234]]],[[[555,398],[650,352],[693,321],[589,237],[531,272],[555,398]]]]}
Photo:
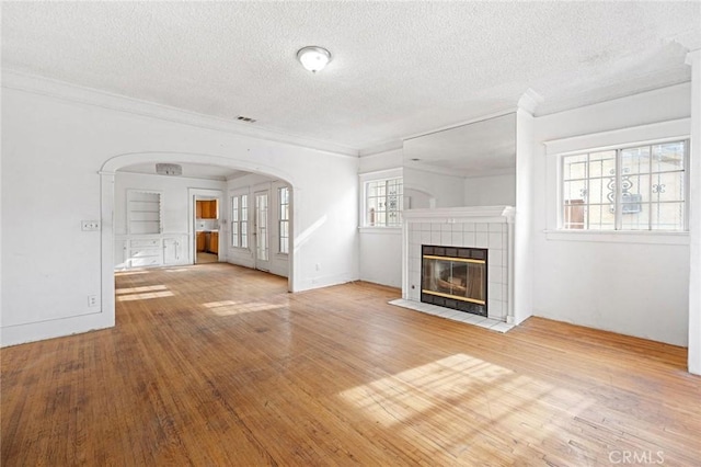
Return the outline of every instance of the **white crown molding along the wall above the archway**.
{"type": "Polygon", "coordinates": [[[87,88],[15,70],[2,69],[2,88],[45,95],[83,105],[108,109],[116,112],[125,112],[166,122],[231,133],[238,136],[255,138],[264,141],[315,149],[338,156],[349,156],[354,158],[359,156],[359,150],[357,148],[314,138],[307,138],[303,136],[290,135],[267,128],[256,128],[250,126],[250,124],[198,114],[196,112],[127,98],[125,95],[114,94],[93,88],[87,88]]]}

